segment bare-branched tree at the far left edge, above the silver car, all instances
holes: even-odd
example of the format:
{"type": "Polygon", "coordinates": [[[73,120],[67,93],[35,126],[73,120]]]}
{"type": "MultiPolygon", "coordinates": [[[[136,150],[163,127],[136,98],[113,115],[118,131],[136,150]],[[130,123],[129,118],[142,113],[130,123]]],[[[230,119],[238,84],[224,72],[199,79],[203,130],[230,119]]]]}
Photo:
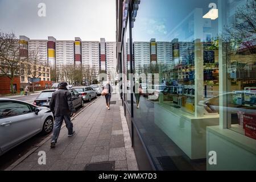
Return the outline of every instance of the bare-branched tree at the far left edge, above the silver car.
{"type": "Polygon", "coordinates": [[[11,93],[14,93],[14,78],[20,75],[20,70],[24,67],[27,57],[20,55],[23,48],[19,40],[13,33],[0,32],[0,76],[10,79],[11,93]]]}

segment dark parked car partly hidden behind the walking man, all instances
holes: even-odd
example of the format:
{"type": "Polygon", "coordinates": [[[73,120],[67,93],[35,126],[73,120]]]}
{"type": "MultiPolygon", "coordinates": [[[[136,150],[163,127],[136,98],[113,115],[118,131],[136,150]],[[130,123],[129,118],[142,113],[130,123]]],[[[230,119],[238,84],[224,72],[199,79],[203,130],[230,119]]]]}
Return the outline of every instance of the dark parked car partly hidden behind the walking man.
{"type": "MultiPolygon", "coordinates": [[[[55,89],[51,90],[44,90],[42,91],[39,96],[35,99],[34,105],[36,106],[44,106],[49,107],[49,102],[52,99],[52,94],[55,92],[55,89]]],[[[82,97],[79,95],[79,93],[75,89],[70,89],[69,92],[71,92],[72,101],[75,109],[79,106],[84,106],[84,100],[82,100],[82,97]]]]}

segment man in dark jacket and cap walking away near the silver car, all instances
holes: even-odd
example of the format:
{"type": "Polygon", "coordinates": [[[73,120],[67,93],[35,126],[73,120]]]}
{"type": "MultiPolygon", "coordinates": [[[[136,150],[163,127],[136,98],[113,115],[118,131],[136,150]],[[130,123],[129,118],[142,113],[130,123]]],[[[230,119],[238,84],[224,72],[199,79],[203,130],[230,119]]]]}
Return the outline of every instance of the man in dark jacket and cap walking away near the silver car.
{"type": "Polygon", "coordinates": [[[55,115],[51,148],[55,147],[55,144],[57,143],[63,119],[65,119],[66,127],[68,129],[68,137],[72,137],[75,134],[75,131],[73,131],[73,123],[70,118],[74,115],[73,112],[75,112],[75,108],[73,106],[71,93],[68,91],[67,86],[67,82],[60,82],[59,89],[52,94],[52,99],[49,103],[49,107],[54,111],[55,115]]]}

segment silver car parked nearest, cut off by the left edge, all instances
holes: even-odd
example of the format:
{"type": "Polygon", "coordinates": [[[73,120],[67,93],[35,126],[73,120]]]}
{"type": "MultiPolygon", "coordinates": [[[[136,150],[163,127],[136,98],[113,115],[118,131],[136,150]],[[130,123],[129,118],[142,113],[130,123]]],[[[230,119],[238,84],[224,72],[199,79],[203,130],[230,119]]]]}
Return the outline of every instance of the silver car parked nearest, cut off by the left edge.
{"type": "Polygon", "coordinates": [[[0,98],[0,155],[38,133],[53,129],[53,114],[47,107],[0,98]]]}

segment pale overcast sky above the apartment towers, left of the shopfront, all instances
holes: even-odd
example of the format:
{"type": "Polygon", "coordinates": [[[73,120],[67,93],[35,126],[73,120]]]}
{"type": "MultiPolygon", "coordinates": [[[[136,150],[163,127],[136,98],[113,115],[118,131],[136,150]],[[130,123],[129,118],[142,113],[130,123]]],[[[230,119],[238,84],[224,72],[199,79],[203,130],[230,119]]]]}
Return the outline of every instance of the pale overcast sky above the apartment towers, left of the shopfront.
{"type": "Polygon", "coordinates": [[[115,0],[0,0],[0,30],[30,39],[115,41],[115,0]],[[38,16],[39,3],[46,17],[38,16]]]}

